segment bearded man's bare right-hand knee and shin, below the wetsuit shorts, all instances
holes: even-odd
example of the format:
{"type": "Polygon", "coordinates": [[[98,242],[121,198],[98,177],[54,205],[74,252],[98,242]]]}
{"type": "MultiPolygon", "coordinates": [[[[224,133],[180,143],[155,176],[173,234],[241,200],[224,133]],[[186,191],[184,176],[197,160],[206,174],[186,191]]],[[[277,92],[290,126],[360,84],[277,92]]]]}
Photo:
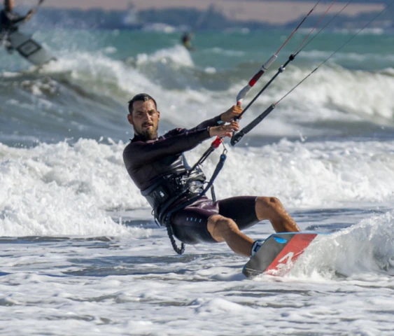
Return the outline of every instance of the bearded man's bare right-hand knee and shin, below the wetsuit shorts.
{"type": "Polygon", "coordinates": [[[258,197],[255,204],[259,221],[269,220],[276,232],[299,232],[297,223],[276,197],[258,197]]]}

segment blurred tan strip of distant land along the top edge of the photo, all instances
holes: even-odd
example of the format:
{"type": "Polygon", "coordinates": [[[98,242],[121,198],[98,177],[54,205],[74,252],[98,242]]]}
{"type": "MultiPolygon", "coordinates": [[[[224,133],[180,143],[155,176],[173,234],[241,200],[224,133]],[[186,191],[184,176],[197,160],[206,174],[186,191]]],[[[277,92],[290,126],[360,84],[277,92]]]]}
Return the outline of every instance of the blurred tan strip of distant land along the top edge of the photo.
{"type": "MultiPolygon", "coordinates": [[[[45,6],[56,8],[104,8],[106,10],[127,10],[130,3],[135,10],[184,8],[206,10],[213,6],[229,20],[237,22],[255,21],[269,25],[286,25],[305,15],[314,6],[315,1],[234,1],[234,0],[47,0],[45,6]]],[[[338,12],[346,3],[335,3],[332,12],[338,12]]],[[[328,3],[319,5],[314,13],[323,13],[328,3]]],[[[343,15],[356,16],[384,9],[383,3],[351,3],[342,12],[343,15]]]]}

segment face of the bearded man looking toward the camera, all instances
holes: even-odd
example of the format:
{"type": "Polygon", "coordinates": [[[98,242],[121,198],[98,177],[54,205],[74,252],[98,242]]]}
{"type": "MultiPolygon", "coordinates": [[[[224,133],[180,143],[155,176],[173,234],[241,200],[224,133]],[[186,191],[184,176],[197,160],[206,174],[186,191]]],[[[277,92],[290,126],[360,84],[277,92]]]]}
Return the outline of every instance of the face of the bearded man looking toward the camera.
{"type": "Polygon", "coordinates": [[[153,100],[134,102],[132,116],[127,115],[129,123],[133,125],[134,133],[146,140],[157,138],[160,112],[156,110],[153,100]]]}

